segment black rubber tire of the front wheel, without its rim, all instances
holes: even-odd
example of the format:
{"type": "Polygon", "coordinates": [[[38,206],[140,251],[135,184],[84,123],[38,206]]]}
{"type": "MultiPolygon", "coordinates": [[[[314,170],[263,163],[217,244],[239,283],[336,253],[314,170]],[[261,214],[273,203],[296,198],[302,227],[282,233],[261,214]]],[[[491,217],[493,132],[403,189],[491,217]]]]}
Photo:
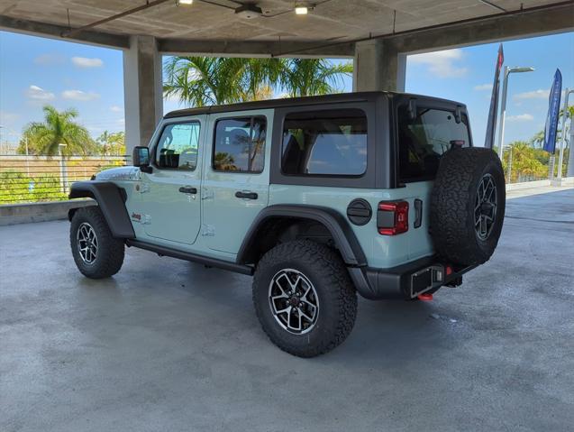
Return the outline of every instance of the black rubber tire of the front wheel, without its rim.
{"type": "Polygon", "coordinates": [[[71,220],[69,243],[77,269],[90,279],[109,278],[122,268],[125,253],[123,240],[112,236],[100,207],[92,206],[77,209],[71,220]],[[77,230],[84,223],[93,228],[97,237],[96,258],[92,263],[84,262],[78,250],[77,230]]]}

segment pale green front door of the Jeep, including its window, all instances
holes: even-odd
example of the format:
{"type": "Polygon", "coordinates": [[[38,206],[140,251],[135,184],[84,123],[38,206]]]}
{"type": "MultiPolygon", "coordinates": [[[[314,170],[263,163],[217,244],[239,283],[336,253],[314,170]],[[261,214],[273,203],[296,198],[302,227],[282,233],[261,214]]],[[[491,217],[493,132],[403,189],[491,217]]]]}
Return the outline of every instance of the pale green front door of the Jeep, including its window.
{"type": "Polygon", "coordinates": [[[165,124],[150,149],[153,171],[141,174],[141,223],[152,238],[196,242],[204,120],[198,116],[165,124]]]}

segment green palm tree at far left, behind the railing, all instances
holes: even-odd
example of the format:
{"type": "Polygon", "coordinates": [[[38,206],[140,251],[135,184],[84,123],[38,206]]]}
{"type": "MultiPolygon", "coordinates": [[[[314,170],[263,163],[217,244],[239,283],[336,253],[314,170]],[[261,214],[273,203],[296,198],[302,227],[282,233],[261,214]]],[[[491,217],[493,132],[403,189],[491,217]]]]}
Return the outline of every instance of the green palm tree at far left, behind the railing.
{"type": "Polygon", "coordinates": [[[77,118],[75,109],[59,112],[47,105],[42,110],[44,121],[28,124],[23,132],[23,140],[28,139],[29,152],[53,156],[59,152],[59,144],[66,144],[62,150],[65,155],[87,155],[94,151],[95,145],[87,129],[74,121],[77,118]]]}

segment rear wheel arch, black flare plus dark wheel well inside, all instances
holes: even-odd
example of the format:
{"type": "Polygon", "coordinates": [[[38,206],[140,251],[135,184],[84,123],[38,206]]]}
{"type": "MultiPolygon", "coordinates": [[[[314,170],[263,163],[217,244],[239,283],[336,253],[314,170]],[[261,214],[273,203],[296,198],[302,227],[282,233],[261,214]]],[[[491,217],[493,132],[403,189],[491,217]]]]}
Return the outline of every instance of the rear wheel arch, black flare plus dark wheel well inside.
{"type": "Polygon", "coordinates": [[[337,211],[329,207],[305,205],[274,205],[261,210],[248,230],[237,253],[238,264],[255,264],[280,236],[280,232],[298,223],[322,225],[333,238],[343,262],[352,267],[367,265],[367,259],[360,247],[351,225],[337,211]]]}

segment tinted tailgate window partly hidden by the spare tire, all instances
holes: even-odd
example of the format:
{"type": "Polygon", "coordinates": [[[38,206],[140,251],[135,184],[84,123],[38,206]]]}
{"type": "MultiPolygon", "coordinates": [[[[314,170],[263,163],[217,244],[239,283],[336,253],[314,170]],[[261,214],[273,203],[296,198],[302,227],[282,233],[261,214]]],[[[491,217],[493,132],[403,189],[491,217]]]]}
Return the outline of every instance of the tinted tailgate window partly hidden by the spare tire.
{"type": "Polygon", "coordinates": [[[402,182],[434,179],[442,153],[454,141],[470,144],[469,119],[460,115],[456,123],[454,112],[418,107],[415,119],[408,115],[407,106],[398,109],[399,177],[402,182]]]}

